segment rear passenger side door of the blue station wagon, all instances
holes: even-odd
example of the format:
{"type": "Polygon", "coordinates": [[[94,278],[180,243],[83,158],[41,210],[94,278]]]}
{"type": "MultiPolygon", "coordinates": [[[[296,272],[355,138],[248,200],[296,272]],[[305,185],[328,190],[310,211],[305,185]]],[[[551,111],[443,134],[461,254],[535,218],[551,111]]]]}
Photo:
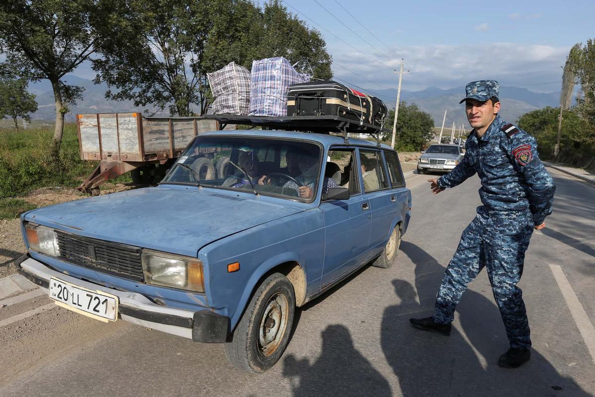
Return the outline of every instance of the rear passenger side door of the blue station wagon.
{"type": "Polygon", "coordinates": [[[368,250],[373,253],[384,247],[390,235],[396,217],[396,197],[390,189],[380,150],[359,148],[359,161],[362,164],[362,188],[369,201],[372,221],[368,250]]]}

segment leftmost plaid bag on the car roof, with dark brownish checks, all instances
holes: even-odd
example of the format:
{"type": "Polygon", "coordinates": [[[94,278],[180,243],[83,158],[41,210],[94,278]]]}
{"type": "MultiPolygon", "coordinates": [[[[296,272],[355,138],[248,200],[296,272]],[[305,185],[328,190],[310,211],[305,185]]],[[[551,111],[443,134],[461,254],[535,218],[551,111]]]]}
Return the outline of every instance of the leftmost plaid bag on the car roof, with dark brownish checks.
{"type": "Polygon", "coordinates": [[[230,62],[226,67],[207,73],[215,97],[213,114],[246,115],[250,108],[250,72],[230,62]]]}

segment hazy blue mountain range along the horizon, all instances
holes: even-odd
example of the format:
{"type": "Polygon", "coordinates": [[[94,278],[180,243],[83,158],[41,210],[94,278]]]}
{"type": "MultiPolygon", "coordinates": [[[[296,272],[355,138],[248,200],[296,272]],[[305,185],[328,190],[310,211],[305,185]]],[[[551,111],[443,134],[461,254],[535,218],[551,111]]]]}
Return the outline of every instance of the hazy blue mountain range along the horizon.
{"type": "MultiPolygon", "coordinates": [[[[84,88],[83,99],[77,101],[77,104],[71,107],[70,113],[66,115],[68,121],[74,121],[76,114],[83,113],[143,111],[143,108],[135,107],[131,101],[108,101],[108,99],[105,99],[105,91],[108,90],[108,86],[103,83],[96,85],[93,84],[92,80],[74,75],[67,75],[65,81],[84,88]]],[[[383,99],[389,109],[394,108],[397,96],[396,89],[370,89],[365,91],[370,95],[383,99]]],[[[48,80],[31,83],[29,92],[36,95],[35,100],[38,104],[38,110],[32,114],[32,118],[37,120],[54,119],[54,93],[48,80]]],[[[459,105],[459,101],[464,97],[464,92],[465,87],[453,89],[427,87],[419,91],[402,90],[400,99],[408,104],[415,103],[422,111],[428,112],[434,119],[434,125],[438,127],[442,125],[444,110],[446,110],[444,127],[450,128],[453,122],[457,127],[461,126],[461,124],[466,126],[464,105],[459,105]]],[[[500,111],[502,117],[505,120],[516,122],[526,112],[546,106],[558,107],[560,93],[533,92],[522,87],[500,87],[500,101],[502,102],[502,110],[500,111]]],[[[154,111],[153,108],[149,108],[149,110],[154,111]]],[[[168,115],[167,110],[161,115],[168,115]]]]}

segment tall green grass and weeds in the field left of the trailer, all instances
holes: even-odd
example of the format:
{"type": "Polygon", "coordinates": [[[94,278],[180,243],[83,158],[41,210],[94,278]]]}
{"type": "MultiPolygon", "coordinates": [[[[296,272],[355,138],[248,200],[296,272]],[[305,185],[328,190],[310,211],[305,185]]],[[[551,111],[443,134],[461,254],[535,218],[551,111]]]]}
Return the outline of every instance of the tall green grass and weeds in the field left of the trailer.
{"type": "Polygon", "coordinates": [[[52,132],[48,129],[15,133],[0,130],[0,198],[23,195],[42,186],[77,186],[97,162],[80,160],[76,126],[67,125],[60,161],[49,156],[52,132]]]}

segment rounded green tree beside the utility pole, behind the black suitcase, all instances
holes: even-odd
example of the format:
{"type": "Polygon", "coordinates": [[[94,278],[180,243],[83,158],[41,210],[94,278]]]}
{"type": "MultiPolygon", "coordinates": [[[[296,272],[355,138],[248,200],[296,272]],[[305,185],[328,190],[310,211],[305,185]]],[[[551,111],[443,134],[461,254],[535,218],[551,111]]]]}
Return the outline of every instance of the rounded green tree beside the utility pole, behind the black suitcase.
{"type": "MultiPolygon", "coordinates": [[[[390,140],[394,121],[394,109],[389,111],[384,127],[391,132],[383,136],[390,140]]],[[[419,110],[416,104],[400,102],[399,117],[394,139],[394,148],[402,152],[417,152],[433,136],[434,120],[427,112],[419,110]]]]}

